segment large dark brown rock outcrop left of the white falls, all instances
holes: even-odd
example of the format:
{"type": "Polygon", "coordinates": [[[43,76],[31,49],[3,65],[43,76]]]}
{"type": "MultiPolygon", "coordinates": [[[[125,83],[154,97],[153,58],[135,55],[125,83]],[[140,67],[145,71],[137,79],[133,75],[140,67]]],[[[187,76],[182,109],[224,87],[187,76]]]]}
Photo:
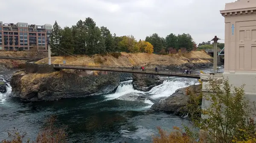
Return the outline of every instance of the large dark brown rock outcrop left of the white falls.
{"type": "Polygon", "coordinates": [[[52,101],[113,93],[119,80],[119,73],[110,72],[95,76],[73,70],[45,74],[24,74],[20,71],[13,75],[10,84],[12,95],[23,101],[52,101]]]}

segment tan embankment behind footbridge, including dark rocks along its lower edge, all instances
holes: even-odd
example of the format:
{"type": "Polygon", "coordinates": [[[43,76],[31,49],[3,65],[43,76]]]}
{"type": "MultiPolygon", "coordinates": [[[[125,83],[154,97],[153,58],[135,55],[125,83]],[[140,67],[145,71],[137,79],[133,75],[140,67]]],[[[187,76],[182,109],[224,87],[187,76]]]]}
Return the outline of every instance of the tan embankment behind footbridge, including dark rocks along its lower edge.
{"type": "MultiPolygon", "coordinates": [[[[48,59],[42,59],[36,63],[46,64],[48,59]]],[[[159,70],[179,70],[186,68],[201,68],[212,65],[212,57],[204,51],[192,51],[189,53],[177,53],[169,55],[157,55],[149,53],[120,53],[119,56],[107,55],[93,55],[85,56],[78,55],[71,56],[55,56],[52,57],[52,64],[66,64],[70,65],[84,65],[84,66],[122,66],[131,67],[134,65],[135,69],[141,66],[147,69],[154,69],[159,67],[159,70]]]]}

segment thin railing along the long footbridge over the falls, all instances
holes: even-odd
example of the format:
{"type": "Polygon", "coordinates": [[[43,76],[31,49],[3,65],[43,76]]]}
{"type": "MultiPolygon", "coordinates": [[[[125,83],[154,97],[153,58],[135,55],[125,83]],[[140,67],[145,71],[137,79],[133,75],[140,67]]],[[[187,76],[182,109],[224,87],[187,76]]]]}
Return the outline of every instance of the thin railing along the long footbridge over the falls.
{"type": "MultiPolygon", "coordinates": [[[[142,70],[137,70],[137,69],[134,69],[132,70],[131,67],[122,67],[122,66],[86,66],[86,65],[68,65],[68,64],[54,64],[54,67],[58,68],[64,68],[64,67],[84,67],[84,68],[90,68],[91,70],[97,70],[97,69],[111,69],[113,71],[137,71],[137,72],[141,72],[141,73],[156,73],[156,71],[154,69],[151,69],[151,70],[148,70],[148,69],[145,69],[144,71],[142,70]]],[[[81,69],[82,70],[82,69],[81,69]]],[[[185,73],[184,72],[180,72],[180,71],[168,71],[168,72],[165,72],[165,71],[158,71],[157,73],[163,73],[163,74],[170,74],[170,75],[184,75],[185,73]]],[[[200,76],[200,73],[199,72],[192,72],[192,74],[188,74],[190,76],[195,76],[195,77],[198,77],[200,76]]]]}

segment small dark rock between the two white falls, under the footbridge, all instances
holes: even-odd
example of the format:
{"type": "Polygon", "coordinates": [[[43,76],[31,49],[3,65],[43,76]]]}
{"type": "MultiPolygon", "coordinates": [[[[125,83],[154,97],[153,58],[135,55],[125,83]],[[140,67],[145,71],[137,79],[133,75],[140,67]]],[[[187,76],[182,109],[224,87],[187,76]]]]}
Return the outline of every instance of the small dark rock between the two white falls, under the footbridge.
{"type": "Polygon", "coordinates": [[[155,75],[133,74],[132,78],[134,89],[144,92],[151,90],[154,86],[163,84],[163,79],[155,75]]]}

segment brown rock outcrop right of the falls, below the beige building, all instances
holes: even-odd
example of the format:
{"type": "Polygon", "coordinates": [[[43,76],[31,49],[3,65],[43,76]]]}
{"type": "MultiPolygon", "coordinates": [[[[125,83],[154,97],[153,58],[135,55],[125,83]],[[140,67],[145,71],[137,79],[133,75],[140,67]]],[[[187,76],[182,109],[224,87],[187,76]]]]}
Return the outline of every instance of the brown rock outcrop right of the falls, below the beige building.
{"type": "Polygon", "coordinates": [[[151,109],[172,112],[176,115],[187,113],[186,105],[189,102],[188,91],[195,92],[197,95],[201,93],[201,85],[192,85],[190,87],[180,88],[171,96],[161,100],[159,103],[153,104],[151,109]]]}

